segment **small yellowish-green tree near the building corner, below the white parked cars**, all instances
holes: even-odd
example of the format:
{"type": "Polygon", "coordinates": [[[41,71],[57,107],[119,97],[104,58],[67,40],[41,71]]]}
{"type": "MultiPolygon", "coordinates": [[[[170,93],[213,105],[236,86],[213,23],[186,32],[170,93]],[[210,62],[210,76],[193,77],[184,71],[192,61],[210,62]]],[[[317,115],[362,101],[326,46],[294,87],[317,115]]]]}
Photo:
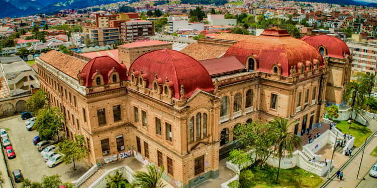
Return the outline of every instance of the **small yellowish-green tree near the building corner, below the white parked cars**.
{"type": "Polygon", "coordinates": [[[84,136],[74,135],[74,140],[66,139],[58,143],[58,152],[64,154],[63,161],[66,164],[73,162],[75,169],[75,161],[79,161],[87,156],[87,148],[84,136]]]}

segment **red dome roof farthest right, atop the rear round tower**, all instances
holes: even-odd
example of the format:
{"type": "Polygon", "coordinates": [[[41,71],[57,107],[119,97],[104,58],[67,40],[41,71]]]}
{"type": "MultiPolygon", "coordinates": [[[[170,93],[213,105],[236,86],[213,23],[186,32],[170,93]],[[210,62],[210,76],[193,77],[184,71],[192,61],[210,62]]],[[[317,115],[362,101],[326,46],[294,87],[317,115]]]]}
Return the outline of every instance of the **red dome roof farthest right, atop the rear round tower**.
{"type": "Polygon", "coordinates": [[[332,58],[343,59],[344,53],[350,55],[347,45],[342,40],[333,36],[305,36],[301,40],[309,43],[316,49],[318,49],[320,46],[324,46],[326,48],[327,55],[332,58]]]}

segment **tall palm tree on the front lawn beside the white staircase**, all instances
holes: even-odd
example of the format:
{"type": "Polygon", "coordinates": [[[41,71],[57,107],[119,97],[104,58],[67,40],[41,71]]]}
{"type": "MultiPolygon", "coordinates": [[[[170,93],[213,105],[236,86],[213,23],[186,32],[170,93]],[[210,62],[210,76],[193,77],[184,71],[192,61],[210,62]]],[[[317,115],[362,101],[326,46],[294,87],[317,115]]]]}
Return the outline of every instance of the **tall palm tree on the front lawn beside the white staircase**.
{"type": "Polygon", "coordinates": [[[279,180],[280,161],[284,152],[288,151],[289,157],[292,157],[294,149],[301,144],[300,137],[289,130],[289,127],[295,122],[296,121],[292,121],[288,124],[287,119],[281,117],[274,118],[271,122],[271,125],[275,130],[273,133],[271,133],[270,140],[275,143],[274,146],[277,150],[277,154],[279,155],[279,166],[277,168],[276,181],[279,180]]]}

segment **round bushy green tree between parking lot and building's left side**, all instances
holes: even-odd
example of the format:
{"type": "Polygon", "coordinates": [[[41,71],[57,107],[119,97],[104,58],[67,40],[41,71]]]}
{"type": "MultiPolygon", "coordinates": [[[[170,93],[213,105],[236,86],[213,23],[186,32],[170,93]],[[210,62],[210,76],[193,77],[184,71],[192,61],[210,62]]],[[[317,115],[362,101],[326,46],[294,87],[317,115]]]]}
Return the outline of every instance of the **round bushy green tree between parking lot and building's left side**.
{"type": "Polygon", "coordinates": [[[64,115],[59,108],[43,108],[38,111],[35,129],[42,139],[51,139],[57,135],[59,141],[59,132],[63,130],[64,115]]]}

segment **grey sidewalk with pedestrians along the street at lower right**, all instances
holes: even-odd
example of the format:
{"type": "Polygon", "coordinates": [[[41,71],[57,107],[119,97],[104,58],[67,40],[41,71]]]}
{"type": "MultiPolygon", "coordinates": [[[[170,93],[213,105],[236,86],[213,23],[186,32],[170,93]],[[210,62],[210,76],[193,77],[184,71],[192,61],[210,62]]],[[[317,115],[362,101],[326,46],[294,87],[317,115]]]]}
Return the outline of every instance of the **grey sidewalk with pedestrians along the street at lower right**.
{"type": "MultiPolygon", "coordinates": [[[[377,137],[374,136],[371,142],[365,147],[364,157],[362,159],[361,168],[359,172],[359,179],[356,179],[357,171],[360,165],[362,151],[351,161],[347,167],[343,170],[344,176],[343,179],[337,179],[336,177],[327,187],[355,187],[360,179],[367,173],[376,161],[377,157],[371,156],[370,152],[377,146],[377,137]]],[[[335,173],[337,169],[332,170],[331,173],[335,173]]]]}

